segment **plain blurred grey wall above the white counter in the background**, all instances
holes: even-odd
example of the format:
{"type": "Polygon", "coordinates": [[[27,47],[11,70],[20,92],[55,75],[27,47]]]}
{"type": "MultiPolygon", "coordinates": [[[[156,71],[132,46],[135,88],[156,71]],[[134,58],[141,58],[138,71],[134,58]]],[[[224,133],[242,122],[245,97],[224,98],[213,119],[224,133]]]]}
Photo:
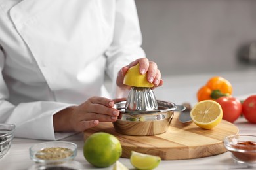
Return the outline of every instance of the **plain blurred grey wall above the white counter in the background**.
{"type": "Polygon", "coordinates": [[[158,63],[163,76],[255,67],[238,57],[246,57],[249,45],[256,42],[256,1],[135,0],[135,3],[142,47],[147,57],[158,63]]]}

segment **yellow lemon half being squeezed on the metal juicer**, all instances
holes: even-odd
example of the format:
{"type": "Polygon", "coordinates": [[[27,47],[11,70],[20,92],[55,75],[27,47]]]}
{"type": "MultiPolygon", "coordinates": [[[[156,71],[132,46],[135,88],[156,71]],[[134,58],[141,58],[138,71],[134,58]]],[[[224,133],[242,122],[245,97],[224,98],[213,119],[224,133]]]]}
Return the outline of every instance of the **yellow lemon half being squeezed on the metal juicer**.
{"type": "Polygon", "coordinates": [[[147,74],[140,74],[139,63],[131,67],[123,79],[123,84],[133,87],[152,88],[154,84],[148,82],[147,74]]]}

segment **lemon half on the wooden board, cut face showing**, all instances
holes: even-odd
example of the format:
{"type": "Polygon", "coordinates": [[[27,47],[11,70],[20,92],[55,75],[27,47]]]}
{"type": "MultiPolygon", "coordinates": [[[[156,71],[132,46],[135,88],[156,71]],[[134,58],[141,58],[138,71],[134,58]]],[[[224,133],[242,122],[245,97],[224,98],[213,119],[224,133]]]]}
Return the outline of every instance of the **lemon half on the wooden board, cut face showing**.
{"type": "Polygon", "coordinates": [[[203,129],[212,129],[221,122],[223,110],[216,101],[204,100],[193,107],[190,116],[197,126],[203,129]]]}

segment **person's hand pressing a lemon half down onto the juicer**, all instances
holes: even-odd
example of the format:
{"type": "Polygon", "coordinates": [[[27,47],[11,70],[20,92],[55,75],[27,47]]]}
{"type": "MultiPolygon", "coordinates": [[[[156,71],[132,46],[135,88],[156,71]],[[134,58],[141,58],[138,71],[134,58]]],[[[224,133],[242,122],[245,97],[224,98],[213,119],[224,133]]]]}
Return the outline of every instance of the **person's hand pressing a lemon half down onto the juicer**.
{"type": "Polygon", "coordinates": [[[158,69],[158,65],[153,61],[148,61],[147,58],[139,58],[131,62],[129,65],[126,65],[125,67],[120,69],[117,75],[117,80],[116,80],[117,86],[121,88],[130,88],[130,87],[127,87],[125,84],[123,84],[123,78],[126,72],[128,71],[128,69],[130,67],[137,65],[137,63],[140,63],[140,67],[139,67],[140,73],[142,75],[146,73],[148,74],[147,80],[148,82],[151,82],[154,84],[153,88],[163,85],[163,80],[161,79],[161,72],[158,69]]]}

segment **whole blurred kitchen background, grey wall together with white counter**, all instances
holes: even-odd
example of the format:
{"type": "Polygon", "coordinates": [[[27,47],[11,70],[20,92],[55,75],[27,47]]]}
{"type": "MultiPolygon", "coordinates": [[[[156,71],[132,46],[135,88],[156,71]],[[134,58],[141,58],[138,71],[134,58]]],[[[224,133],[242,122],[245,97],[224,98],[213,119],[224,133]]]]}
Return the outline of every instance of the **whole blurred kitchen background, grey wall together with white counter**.
{"type": "Polygon", "coordinates": [[[147,58],[164,80],[156,99],[181,105],[212,76],[234,97],[256,94],[255,0],[135,0],[147,58]]]}

